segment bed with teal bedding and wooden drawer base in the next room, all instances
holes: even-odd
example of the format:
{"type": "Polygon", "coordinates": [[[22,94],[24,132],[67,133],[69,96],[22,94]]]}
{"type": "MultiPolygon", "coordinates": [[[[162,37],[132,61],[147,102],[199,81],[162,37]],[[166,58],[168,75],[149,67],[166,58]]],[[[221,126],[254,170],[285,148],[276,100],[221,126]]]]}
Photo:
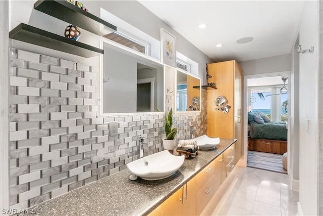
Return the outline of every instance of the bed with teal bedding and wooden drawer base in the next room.
{"type": "Polygon", "coordinates": [[[284,154],[287,152],[287,122],[271,121],[262,114],[248,113],[248,150],[284,154]]]}

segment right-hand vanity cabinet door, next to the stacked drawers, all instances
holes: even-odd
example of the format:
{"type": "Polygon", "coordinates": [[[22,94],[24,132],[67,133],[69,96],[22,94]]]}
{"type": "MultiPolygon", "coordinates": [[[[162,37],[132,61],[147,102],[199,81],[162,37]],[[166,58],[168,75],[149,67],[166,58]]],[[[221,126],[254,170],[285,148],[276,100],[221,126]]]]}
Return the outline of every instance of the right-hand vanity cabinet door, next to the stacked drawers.
{"type": "Polygon", "coordinates": [[[191,179],[184,186],[184,194],[182,215],[196,215],[196,178],[191,179]]]}

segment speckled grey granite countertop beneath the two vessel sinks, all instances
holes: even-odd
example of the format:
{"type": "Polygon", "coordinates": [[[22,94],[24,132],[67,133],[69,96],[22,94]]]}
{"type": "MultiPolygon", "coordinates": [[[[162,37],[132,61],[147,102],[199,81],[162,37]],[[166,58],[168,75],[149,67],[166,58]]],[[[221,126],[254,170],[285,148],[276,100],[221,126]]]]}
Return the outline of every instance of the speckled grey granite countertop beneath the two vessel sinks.
{"type": "Polygon", "coordinates": [[[217,158],[235,139],[220,138],[213,150],[199,150],[163,180],[129,180],[128,169],[31,207],[36,215],[147,215],[217,158]]]}

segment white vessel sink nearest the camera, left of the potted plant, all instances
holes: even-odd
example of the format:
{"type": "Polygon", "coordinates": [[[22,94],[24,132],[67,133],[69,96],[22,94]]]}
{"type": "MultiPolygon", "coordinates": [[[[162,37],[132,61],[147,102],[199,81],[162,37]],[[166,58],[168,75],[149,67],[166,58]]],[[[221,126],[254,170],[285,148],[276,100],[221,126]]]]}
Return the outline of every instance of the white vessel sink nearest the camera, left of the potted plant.
{"type": "Polygon", "coordinates": [[[175,156],[164,150],[127,164],[130,172],[144,180],[159,180],[172,176],[184,163],[185,156],[175,156]]]}

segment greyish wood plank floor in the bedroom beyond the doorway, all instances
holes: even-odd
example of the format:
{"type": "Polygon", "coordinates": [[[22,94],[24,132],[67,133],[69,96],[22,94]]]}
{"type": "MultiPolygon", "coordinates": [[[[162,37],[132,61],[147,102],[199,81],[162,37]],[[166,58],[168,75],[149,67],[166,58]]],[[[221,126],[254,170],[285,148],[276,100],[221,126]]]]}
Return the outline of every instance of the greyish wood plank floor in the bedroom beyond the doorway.
{"type": "Polygon", "coordinates": [[[287,170],[283,168],[282,158],[281,154],[248,151],[247,166],[287,174],[287,170]]]}

